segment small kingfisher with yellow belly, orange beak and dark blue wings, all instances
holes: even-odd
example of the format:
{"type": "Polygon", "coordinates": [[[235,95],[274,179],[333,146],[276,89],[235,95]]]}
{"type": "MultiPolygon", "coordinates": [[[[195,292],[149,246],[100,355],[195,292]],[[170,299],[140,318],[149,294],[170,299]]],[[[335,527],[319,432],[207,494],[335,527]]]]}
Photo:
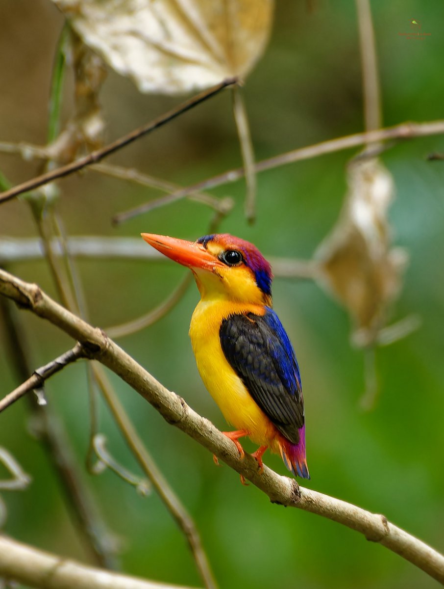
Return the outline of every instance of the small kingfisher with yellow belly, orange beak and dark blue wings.
{"type": "Polygon", "coordinates": [[[269,448],[293,475],[309,479],[301,375],[272,308],[270,264],[252,243],[228,233],[197,241],[141,236],[194,275],[201,300],[189,336],[206,389],[236,428],[223,434],[241,458],[245,452],[239,438],[248,436],[258,445],[252,456],[261,471],[269,448]]]}

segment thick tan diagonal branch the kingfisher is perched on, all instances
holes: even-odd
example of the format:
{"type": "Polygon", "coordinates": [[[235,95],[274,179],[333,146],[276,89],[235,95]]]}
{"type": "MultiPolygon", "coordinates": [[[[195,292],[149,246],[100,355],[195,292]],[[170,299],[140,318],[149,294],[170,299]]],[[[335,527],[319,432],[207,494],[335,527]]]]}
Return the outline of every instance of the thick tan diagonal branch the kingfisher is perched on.
{"type": "Polygon", "coordinates": [[[0,293],[79,340],[91,358],[99,360],[125,380],[151,403],[168,423],[181,429],[236,472],[248,478],[265,492],[273,503],[304,509],[346,525],[363,534],[368,540],[379,542],[396,552],[444,583],[442,554],[391,524],[383,515],[373,514],[340,499],[299,487],[295,479],[281,477],[266,466],[261,473],[251,455],[245,455],[244,459],[240,459],[232,442],[208,419],[202,418],[178,395],[168,391],[101,329],[92,327],[64,309],[36,284],[26,283],[0,270],[0,293]]]}

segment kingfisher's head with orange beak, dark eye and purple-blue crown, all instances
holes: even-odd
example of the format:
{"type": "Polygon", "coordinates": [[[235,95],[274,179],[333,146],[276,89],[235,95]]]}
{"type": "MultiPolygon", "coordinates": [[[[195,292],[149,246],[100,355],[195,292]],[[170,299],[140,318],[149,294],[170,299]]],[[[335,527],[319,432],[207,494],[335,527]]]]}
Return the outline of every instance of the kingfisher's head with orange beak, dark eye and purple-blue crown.
{"type": "Polygon", "coordinates": [[[271,306],[271,266],[252,243],[229,233],[206,235],[197,241],[152,233],[142,233],[142,237],[165,256],[192,270],[202,300],[271,306]]]}

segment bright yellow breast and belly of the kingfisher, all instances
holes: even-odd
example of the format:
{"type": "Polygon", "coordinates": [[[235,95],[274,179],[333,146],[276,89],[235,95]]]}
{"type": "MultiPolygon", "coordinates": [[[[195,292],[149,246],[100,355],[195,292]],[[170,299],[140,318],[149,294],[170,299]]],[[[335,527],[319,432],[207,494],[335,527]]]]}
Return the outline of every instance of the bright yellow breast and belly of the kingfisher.
{"type": "Polygon", "coordinates": [[[233,303],[201,301],[196,307],[189,330],[199,373],[208,392],[221,409],[226,421],[236,429],[245,429],[253,442],[278,450],[276,428],[236,375],[223,354],[219,340],[219,326],[232,313],[259,309],[245,309],[233,303]],[[234,307],[234,308],[233,308],[234,307]]]}

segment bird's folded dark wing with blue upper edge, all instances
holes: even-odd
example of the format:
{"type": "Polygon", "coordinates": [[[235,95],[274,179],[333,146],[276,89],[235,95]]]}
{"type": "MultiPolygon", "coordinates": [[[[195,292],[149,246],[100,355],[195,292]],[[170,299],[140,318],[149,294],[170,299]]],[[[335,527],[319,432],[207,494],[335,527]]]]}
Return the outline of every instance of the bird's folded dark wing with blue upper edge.
{"type": "Polygon", "coordinates": [[[276,313],[232,315],[219,338],[225,358],[252,398],[292,444],[304,423],[301,376],[288,335],[276,313]]]}

